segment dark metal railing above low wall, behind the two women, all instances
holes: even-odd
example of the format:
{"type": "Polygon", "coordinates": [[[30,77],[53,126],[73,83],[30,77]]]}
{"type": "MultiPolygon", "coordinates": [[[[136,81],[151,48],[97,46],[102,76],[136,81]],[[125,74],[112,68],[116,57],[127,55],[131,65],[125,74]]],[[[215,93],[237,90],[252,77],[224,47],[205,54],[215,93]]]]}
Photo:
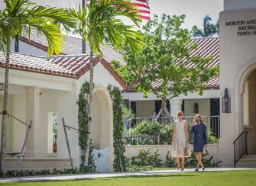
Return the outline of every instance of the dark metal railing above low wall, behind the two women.
{"type": "MultiPolygon", "coordinates": [[[[189,130],[194,117],[184,117],[189,123],[189,130]]],[[[171,144],[173,133],[173,120],[176,117],[135,117],[125,120],[123,141],[126,145],[168,145],[171,144]]],[[[218,143],[220,136],[219,116],[203,116],[207,125],[208,140],[210,144],[218,143]]],[[[190,133],[190,143],[193,135],[190,133]]]]}

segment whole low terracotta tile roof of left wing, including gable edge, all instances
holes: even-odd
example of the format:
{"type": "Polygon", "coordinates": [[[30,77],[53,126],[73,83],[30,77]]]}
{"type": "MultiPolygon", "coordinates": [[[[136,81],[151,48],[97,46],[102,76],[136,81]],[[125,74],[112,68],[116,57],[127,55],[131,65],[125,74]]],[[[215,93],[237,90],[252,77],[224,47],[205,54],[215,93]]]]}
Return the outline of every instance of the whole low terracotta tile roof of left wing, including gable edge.
{"type": "MultiPolygon", "coordinates": [[[[126,88],[125,82],[105,61],[105,59],[94,57],[94,66],[102,63],[105,69],[113,78],[126,88]]],[[[0,67],[5,67],[5,55],[0,52],[0,67]]],[[[29,56],[21,53],[11,53],[10,69],[17,69],[28,72],[39,72],[49,75],[60,75],[68,78],[79,79],[89,71],[89,55],[82,54],[76,56],[53,56],[51,59],[37,56],[29,56]]]]}

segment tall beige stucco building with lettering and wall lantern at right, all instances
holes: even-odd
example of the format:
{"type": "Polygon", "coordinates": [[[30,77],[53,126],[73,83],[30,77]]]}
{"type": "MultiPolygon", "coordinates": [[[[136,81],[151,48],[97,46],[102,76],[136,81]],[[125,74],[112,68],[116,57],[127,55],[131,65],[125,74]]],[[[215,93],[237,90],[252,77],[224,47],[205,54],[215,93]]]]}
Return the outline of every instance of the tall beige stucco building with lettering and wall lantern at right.
{"type": "Polygon", "coordinates": [[[220,92],[228,88],[231,112],[221,113],[219,159],[232,165],[234,153],[240,156],[245,148],[243,131],[248,131],[248,155],[256,154],[255,82],[256,82],[256,2],[224,1],[220,18],[220,92]]]}

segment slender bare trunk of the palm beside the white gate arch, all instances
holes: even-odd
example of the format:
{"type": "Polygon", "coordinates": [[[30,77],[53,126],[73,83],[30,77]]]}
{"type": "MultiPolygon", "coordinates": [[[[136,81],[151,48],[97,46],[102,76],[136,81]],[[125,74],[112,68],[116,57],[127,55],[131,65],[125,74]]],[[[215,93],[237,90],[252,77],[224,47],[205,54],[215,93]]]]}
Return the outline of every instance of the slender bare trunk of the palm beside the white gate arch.
{"type": "Polygon", "coordinates": [[[89,143],[90,143],[90,131],[91,131],[91,125],[92,125],[92,93],[93,93],[93,53],[92,50],[90,52],[89,56],[89,69],[90,69],[90,75],[89,75],[89,113],[88,116],[90,118],[88,123],[88,134],[87,134],[87,140],[86,140],[86,155],[85,155],[85,166],[88,166],[88,159],[89,159],[89,143]]]}

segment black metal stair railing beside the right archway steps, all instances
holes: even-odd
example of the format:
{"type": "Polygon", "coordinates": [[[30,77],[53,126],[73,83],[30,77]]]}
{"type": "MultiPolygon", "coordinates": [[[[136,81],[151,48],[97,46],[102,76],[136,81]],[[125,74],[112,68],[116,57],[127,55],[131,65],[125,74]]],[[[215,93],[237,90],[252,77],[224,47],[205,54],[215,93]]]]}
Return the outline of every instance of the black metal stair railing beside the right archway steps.
{"type": "Polygon", "coordinates": [[[234,167],[242,156],[248,155],[247,145],[248,131],[243,131],[233,142],[234,145],[234,167]]]}

